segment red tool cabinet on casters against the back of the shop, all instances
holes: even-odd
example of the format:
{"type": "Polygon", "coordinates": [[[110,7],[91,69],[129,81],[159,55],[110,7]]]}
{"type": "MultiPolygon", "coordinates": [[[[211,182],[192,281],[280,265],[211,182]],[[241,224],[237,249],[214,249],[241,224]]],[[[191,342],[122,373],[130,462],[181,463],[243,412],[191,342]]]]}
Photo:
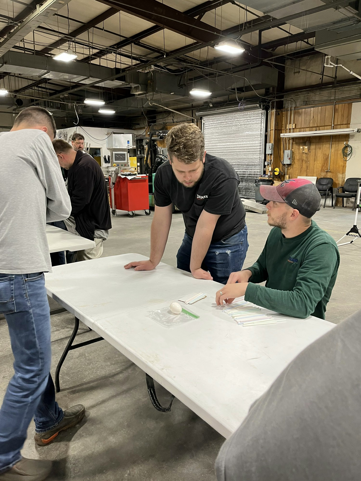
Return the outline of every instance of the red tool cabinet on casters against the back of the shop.
{"type": "MultiPolygon", "coordinates": [[[[112,185],[110,178],[109,182],[112,185]]],[[[130,217],[134,217],[137,210],[143,210],[146,215],[150,215],[148,176],[133,179],[119,176],[112,187],[110,205],[114,215],[116,209],[128,211],[130,217]]]]}

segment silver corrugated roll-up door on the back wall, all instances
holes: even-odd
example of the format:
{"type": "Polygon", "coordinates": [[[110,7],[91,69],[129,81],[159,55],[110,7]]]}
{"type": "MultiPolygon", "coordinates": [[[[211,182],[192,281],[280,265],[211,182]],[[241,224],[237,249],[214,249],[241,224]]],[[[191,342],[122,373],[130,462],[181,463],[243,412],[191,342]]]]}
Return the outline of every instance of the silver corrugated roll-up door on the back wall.
{"type": "Polygon", "coordinates": [[[238,173],[241,197],[255,197],[255,179],[263,173],[265,111],[203,117],[203,132],[207,153],[226,159],[238,173]]]}

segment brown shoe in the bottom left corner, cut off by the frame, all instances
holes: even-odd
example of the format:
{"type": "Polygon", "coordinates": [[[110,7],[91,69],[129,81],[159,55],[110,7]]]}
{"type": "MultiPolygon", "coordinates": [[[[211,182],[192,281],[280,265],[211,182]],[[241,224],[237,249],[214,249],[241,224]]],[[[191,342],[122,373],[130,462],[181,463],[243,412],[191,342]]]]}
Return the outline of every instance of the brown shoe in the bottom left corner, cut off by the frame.
{"type": "Polygon", "coordinates": [[[42,481],[51,470],[52,461],[23,457],[12,468],[0,474],[0,481],[42,481]]]}

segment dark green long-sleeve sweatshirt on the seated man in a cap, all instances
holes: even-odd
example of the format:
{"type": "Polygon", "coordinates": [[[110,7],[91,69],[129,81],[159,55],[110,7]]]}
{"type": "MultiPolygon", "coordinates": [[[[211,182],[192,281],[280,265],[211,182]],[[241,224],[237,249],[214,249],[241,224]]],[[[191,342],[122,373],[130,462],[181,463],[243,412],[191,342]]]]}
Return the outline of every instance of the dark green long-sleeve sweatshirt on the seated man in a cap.
{"type": "Polygon", "coordinates": [[[297,237],[286,239],[274,227],[255,264],[245,300],[302,319],[325,318],[340,255],[334,239],[312,221],[297,237]],[[266,280],[266,286],[257,283],[266,280]]]}

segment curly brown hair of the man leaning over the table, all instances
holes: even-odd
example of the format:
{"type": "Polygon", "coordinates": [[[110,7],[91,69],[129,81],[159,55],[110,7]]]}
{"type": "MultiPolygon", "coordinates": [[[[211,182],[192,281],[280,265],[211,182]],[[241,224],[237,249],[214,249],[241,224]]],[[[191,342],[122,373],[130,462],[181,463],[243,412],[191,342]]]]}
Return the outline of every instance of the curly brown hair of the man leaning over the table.
{"type": "Polygon", "coordinates": [[[195,124],[179,124],[172,127],[166,138],[170,161],[175,157],[183,164],[203,160],[205,152],[204,137],[195,124]]]}

